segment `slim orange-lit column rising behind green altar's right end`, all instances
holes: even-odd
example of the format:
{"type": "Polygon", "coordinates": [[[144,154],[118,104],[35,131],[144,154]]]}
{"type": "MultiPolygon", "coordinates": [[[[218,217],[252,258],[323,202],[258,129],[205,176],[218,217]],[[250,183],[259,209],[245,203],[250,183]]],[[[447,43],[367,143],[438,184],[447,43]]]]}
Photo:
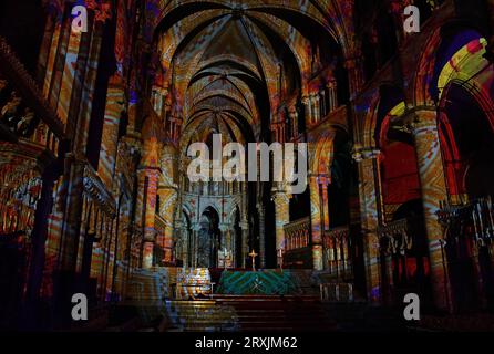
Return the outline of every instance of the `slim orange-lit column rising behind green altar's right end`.
{"type": "Polygon", "coordinates": [[[313,269],[322,270],[325,268],[322,257],[322,232],[323,219],[321,215],[321,195],[319,192],[319,178],[317,175],[309,177],[310,190],[310,223],[312,232],[312,263],[313,269]]]}

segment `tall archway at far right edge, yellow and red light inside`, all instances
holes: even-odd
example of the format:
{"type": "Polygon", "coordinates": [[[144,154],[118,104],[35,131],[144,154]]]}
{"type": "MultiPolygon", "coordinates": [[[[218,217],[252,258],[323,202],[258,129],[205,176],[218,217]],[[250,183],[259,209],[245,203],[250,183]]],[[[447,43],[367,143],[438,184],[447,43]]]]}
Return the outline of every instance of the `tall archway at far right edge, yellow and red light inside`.
{"type": "Polygon", "coordinates": [[[439,136],[444,162],[447,222],[445,257],[456,312],[494,306],[494,272],[486,232],[493,216],[494,86],[477,30],[443,29],[430,88],[439,102],[439,136]]]}

